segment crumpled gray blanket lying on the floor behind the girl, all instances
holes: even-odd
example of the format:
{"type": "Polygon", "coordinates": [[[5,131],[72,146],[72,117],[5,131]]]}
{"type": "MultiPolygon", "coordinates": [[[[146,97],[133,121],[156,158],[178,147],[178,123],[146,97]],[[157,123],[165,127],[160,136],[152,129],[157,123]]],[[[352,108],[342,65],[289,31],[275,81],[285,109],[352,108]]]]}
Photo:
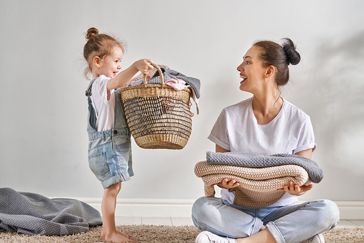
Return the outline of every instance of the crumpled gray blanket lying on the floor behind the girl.
{"type": "Polygon", "coordinates": [[[99,211],[82,201],[0,188],[0,232],[71,235],[98,225],[99,211]]]}

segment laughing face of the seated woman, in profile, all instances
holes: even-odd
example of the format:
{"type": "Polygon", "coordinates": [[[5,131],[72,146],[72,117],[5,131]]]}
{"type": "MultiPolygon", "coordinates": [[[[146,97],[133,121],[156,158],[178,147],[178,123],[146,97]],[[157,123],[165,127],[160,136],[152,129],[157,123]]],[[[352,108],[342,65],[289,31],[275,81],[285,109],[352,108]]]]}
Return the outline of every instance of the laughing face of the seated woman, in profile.
{"type": "Polygon", "coordinates": [[[263,89],[264,75],[266,69],[263,67],[262,61],[259,59],[260,48],[252,46],[243,57],[243,62],[237,67],[240,72],[239,89],[250,93],[263,89]]]}

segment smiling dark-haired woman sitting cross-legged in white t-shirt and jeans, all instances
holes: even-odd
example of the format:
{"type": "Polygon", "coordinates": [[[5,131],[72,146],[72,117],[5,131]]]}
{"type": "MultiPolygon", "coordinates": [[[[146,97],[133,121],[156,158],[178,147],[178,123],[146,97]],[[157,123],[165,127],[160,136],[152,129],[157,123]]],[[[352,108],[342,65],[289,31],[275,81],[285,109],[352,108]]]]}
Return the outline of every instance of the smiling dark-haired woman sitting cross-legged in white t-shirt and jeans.
{"type": "MultiPolygon", "coordinates": [[[[223,109],[208,139],[216,152],[295,154],[311,158],[316,148],[310,117],[281,97],[280,87],[289,80],[288,65],[300,55],[292,40],[283,45],[259,41],[246,52],[237,67],[240,90],[253,96],[223,109]]],[[[322,232],[335,227],[339,209],[330,200],[313,200],[296,205],[298,196],[313,188],[289,182],[276,203],[264,208],[233,204],[239,186],[223,179],[222,198],[201,197],[193,205],[192,219],[202,231],[196,243],[324,243],[322,232]]]]}

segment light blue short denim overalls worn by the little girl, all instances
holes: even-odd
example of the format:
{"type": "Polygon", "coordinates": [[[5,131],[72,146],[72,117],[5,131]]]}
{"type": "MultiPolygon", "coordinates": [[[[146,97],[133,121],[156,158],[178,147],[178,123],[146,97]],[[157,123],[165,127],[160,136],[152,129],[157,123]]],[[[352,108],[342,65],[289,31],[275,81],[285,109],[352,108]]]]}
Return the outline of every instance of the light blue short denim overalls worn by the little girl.
{"type": "Polygon", "coordinates": [[[124,105],[118,90],[115,95],[114,128],[98,132],[95,130],[96,111],[92,106],[91,87],[96,78],[91,80],[85,95],[88,100],[88,163],[103,188],[120,181],[130,180],[132,171],[131,134],[124,114],[124,105]]]}

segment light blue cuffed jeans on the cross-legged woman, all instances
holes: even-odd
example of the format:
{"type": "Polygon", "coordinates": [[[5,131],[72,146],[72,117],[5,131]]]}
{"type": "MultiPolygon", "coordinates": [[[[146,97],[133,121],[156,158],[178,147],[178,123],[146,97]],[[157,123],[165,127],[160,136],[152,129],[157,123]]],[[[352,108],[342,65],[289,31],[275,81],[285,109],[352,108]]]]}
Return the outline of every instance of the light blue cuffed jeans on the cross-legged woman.
{"type": "Polygon", "coordinates": [[[229,238],[245,238],[266,226],[277,243],[296,243],[334,228],[339,208],[330,200],[274,208],[244,208],[221,198],[201,197],[192,207],[192,220],[201,230],[229,238]]]}

